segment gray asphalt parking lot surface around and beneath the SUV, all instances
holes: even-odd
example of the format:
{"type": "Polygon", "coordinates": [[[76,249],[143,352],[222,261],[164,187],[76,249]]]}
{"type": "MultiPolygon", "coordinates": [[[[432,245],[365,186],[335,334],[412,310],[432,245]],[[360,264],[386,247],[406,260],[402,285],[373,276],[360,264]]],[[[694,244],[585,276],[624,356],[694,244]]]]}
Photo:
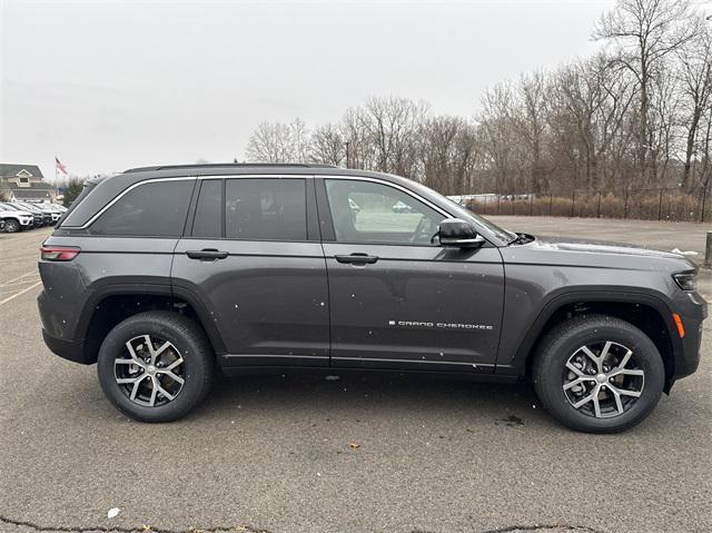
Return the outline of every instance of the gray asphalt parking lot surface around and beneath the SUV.
{"type": "MultiPolygon", "coordinates": [[[[699,251],[706,230],[493,218],[699,251]]],[[[621,435],[557,425],[526,385],[382,376],[222,379],[190,416],[148,425],[44,347],[48,233],[0,234],[2,532],[712,531],[711,323],[699,372],[621,435]]]]}

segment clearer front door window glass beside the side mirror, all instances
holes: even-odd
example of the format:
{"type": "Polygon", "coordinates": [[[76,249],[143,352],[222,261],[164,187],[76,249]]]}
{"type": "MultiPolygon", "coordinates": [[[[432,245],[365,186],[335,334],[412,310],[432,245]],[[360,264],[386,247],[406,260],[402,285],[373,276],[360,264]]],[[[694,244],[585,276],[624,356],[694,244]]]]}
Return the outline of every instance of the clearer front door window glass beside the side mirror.
{"type": "Polygon", "coordinates": [[[445,218],[407,193],[373,181],[327,179],[326,194],[337,241],[431,245],[445,218]]]}

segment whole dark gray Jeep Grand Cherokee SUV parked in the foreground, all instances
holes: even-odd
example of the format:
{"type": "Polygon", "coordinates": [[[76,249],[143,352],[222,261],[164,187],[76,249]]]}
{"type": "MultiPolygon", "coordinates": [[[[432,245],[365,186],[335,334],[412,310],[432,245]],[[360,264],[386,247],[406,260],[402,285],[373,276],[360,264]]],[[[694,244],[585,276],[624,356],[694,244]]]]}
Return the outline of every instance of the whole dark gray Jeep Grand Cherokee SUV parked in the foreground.
{"type": "Polygon", "coordinates": [[[47,345],[146,422],[188,413],[217,369],[395,371],[527,376],[563,424],[623,431],[696,369],[706,316],[682,256],[512,233],[412,180],[312,165],[89,180],[39,269],[47,345]]]}

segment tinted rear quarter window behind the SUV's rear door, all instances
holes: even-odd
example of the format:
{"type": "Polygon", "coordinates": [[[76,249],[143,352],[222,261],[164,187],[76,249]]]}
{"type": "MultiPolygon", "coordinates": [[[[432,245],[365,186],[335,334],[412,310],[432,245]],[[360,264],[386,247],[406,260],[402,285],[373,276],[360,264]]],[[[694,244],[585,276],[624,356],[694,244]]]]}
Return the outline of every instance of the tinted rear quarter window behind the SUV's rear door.
{"type": "Polygon", "coordinates": [[[195,180],[158,181],[129,190],[91,225],[99,235],[178,237],[195,180]]]}

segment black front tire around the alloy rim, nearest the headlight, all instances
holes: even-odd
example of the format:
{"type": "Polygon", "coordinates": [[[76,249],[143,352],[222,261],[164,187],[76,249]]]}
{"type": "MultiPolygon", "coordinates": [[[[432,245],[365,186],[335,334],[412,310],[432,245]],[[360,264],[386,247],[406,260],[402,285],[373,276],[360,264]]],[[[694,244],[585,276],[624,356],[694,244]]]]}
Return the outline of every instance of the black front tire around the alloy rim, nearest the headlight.
{"type": "MultiPolygon", "coordinates": [[[[573,373],[568,376],[571,374],[573,373]]],[[[546,334],[535,354],[532,377],[544,408],[562,424],[586,433],[617,433],[635,426],[653,411],[663,391],[665,368],[655,344],[632,324],[612,316],[582,315],[546,334]],[[620,412],[616,406],[615,413],[609,413],[609,417],[596,417],[595,413],[574,407],[573,401],[567,396],[573,393],[564,392],[568,372],[566,363],[583,346],[595,346],[596,343],[600,345],[609,340],[634,354],[632,358],[634,357],[636,372],[643,371],[644,382],[639,382],[643,383],[640,397],[629,399],[625,396],[625,401],[631,403],[626,404],[622,413],[616,414],[620,412]]],[[[591,377],[590,383],[593,385],[590,386],[594,387],[596,376],[591,377]]],[[[609,387],[607,383],[602,383],[602,396],[610,397],[606,401],[613,403],[615,398],[610,393],[611,388],[605,388],[609,387]]],[[[587,393],[583,393],[582,397],[587,397],[585,394],[587,393]]],[[[591,396],[601,397],[595,394],[591,396]]],[[[591,409],[592,406],[587,405],[585,408],[591,409]]]]}

